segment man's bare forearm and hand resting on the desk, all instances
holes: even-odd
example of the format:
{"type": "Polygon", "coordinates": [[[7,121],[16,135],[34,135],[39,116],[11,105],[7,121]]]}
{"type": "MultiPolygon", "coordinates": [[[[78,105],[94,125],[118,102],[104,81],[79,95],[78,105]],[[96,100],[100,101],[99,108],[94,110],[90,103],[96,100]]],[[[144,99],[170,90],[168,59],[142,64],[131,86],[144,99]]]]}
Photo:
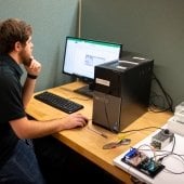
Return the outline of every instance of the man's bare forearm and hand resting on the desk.
{"type": "Polygon", "coordinates": [[[48,121],[29,120],[27,117],[11,120],[10,124],[19,139],[36,139],[62,130],[84,127],[88,119],[81,114],[71,114],[62,119],[48,121]]]}

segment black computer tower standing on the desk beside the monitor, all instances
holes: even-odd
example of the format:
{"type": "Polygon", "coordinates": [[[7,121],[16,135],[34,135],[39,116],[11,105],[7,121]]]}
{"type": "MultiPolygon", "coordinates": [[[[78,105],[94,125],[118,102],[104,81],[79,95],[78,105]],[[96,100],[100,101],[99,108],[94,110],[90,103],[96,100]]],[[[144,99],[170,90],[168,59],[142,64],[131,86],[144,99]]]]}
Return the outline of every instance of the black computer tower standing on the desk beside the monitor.
{"type": "Polygon", "coordinates": [[[147,111],[153,67],[132,52],[95,66],[92,122],[118,133],[147,111]]]}

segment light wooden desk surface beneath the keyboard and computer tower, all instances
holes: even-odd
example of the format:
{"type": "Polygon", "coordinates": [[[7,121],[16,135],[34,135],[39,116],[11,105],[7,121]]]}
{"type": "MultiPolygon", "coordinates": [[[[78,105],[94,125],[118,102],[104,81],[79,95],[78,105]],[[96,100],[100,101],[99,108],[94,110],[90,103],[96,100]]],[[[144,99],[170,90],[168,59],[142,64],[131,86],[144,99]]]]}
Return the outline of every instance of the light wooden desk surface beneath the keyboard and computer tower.
{"type": "MultiPolygon", "coordinates": [[[[83,83],[81,82],[73,82],[61,87],[48,89],[48,91],[84,105],[84,108],[78,113],[81,113],[86,115],[89,119],[92,119],[92,106],[93,106],[92,98],[82,96],[74,92],[75,89],[82,86],[83,83]]],[[[57,110],[49,105],[45,105],[35,100],[34,97],[31,98],[26,111],[28,115],[38,120],[49,120],[67,116],[67,114],[57,110]]],[[[129,127],[127,127],[124,131],[132,129],[141,129],[145,127],[161,127],[167,122],[167,120],[172,115],[169,113],[156,114],[148,111],[144,114],[142,117],[140,117],[137,120],[132,122],[129,127]]],[[[65,130],[53,134],[53,136],[63,142],[64,144],[66,144],[67,146],[69,146],[70,148],[73,148],[74,150],[76,150],[77,153],[79,153],[80,155],[84,156],[92,162],[96,163],[98,167],[106,170],[115,178],[123,181],[124,183],[131,183],[130,174],[115,167],[113,165],[113,159],[120,155],[121,153],[128,150],[130,146],[133,146],[141,140],[145,139],[153,131],[155,131],[155,129],[137,131],[129,135],[127,134],[128,135],[127,137],[130,137],[132,140],[131,144],[127,146],[120,146],[114,149],[103,149],[103,145],[109,142],[118,141],[118,137],[121,136],[122,134],[115,134],[98,126],[94,126],[91,121],[86,128],[65,130]],[[98,132],[103,132],[104,134],[107,135],[107,139],[103,137],[102,135],[97,134],[91,129],[96,130],[98,132]]]]}

